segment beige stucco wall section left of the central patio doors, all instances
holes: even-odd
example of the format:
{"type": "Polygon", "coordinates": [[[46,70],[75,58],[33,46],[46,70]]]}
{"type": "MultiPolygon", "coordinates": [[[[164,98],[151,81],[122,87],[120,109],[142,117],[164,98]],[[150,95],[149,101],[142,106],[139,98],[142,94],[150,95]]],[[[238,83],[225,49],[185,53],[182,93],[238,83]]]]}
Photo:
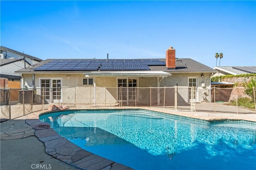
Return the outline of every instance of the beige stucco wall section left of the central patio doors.
{"type": "MultiPolygon", "coordinates": [[[[24,85],[28,88],[33,87],[32,82],[32,74],[23,74],[24,77],[24,85]]],[[[83,104],[83,103],[91,103],[94,101],[97,103],[105,103],[112,104],[116,103],[116,78],[115,77],[89,77],[94,78],[94,82],[96,83],[96,88],[94,86],[85,86],[82,85],[82,78],[85,78],[84,74],[35,74],[35,87],[36,89],[36,102],[41,103],[41,89],[40,89],[40,79],[41,78],[60,78],[62,80],[62,103],[67,104],[83,104]],[[76,88],[75,88],[76,87],[76,88]],[[105,87],[108,87],[105,91],[105,87]],[[114,87],[114,88],[109,88],[114,87]],[[96,99],[94,95],[94,90],[96,89],[96,99]],[[105,97],[106,94],[106,97],[105,97]]]]}

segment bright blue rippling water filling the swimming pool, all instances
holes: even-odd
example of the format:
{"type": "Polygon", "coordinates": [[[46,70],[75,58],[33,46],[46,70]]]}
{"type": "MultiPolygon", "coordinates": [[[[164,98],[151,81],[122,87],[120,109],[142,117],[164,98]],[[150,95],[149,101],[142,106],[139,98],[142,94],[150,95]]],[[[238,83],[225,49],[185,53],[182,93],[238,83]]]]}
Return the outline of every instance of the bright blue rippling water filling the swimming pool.
{"type": "Polygon", "coordinates": [[[136,170],[255,170],[256,127],[205,124],[147,111],[40,116],[62,137],[136,170]]]}

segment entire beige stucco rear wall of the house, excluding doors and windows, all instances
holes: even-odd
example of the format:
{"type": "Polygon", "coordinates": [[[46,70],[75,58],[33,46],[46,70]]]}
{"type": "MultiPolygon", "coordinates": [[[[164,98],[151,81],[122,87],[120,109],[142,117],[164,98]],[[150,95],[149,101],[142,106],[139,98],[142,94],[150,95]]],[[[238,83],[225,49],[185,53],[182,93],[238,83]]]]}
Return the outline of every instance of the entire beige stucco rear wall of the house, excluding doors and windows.
{"type": "MultiPolygon", "coordinates": [[[[210,85],[210,73],[205,74],[202,78],[201,73],[172,73],[172,76],[167,78],[159,78],[160,87],[173,87],[178,83],[178,98],[180,102],[189,102],[188,98],[188,78],[196,77],[198,94],[196,98],[198,102],[203,102],[206,98],[209,100],[210,91],[208,90],[210,85]],[[206,82],[208,80],[208,82],[206,82]],[[202,82],[205,83],[205,86],[202,87],[202,82]]],[[[33,87],[32,83],[32,74],[23,74],[24,82],[28,88],[33,87]]],[[[40,87],[40,78],[60,78],[62,80],[62,99],[63,103],[77,104],[81,103],[91,103],[96,102],[97,104],[112,104],[118,102],[118,90],[117,90],[117,81],[116,77],[89,77],[94,78],[94,85],[84,86],[82,85],[82,78],[85,78],[84,74],[35,74],[35,87],[40,87]],[[68,88],[69,87],[69,88],[68,88]],[[76,88],[74,88],[76,87],[76,88]],[[105,90],[105,87],[106,90],[105,90]],[[95,93],[94,93],[95,90],[95,93]]],[[[157,78],[156,77],[140,77],[137,82],[138,87],[157,87],[157,78]]],[[[40,103],[41,90],[36,90],[36,100],[40,103]]],[[[174,97],[174,96],[173,96],[174,97]]]]}

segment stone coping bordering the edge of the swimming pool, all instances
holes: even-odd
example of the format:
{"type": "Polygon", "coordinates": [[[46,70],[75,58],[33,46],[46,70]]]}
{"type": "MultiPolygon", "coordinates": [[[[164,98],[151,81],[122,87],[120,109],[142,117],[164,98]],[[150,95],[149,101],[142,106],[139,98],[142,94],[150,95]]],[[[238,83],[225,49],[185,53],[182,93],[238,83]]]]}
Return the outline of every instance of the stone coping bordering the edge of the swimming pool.
{"type": "MultiPolygon", "coordinates": [[[[134,108],[72,108],[72,109],[66,109],[65,111],[91,111],[91,110],[97,110],[97,111],[104,111],[104,110],[147,110],[152,111],[152,113],[160,113],[162,115],[169,115],[172,117],[176,117],[178,119],[185,119],[188,121],[198,121],[201,123],[240,123],[240,124],[251,124],[256,125],[256,120],[246,120],[243,119],[243,117],[198,117],[198,115],[201,115],[202,113],[196,112],[180,112],[180,111],[174,111],[170,109],[162,109],[162,108],[154,108],[154,107],[147,107],[147,108],[140,108],[140,107],[134,107],[134,108]],[[172,113],[170,113],[172,112],[172,113]]],[[[34,135],[38,138],[39,141],[44,143],[45,152],[52,156],[53,158],[56,158],[62,162],[65,162],[66,164],[69,164],[71,166],[74,166],[79,169],[94,169],[94,170],[125,170],[125,169],[132,169],[128,166],[122,165],[118,162],[114,162],[112,160],[103,158],[101,156],[98,156],[96,154],[93,154],[91,152],[88,152],[77,145],[71,143],[64,137],[61,137],[58,135],[56,131],[54,131],[50,127],[38,127],[38,125],[42,124],[42,122],[39,119],[40,115],[46,115],[50,113],[58,113],[60,111],[37,111],[34,113],[29,113],[26,115],[25,122],[30,125],[33,129],[35,129],[34,135]]],[[[215,116],[218,114],[214,114],[215,116]]],[[[229,114],[230,115],[230,114],[229,114]]]]}

